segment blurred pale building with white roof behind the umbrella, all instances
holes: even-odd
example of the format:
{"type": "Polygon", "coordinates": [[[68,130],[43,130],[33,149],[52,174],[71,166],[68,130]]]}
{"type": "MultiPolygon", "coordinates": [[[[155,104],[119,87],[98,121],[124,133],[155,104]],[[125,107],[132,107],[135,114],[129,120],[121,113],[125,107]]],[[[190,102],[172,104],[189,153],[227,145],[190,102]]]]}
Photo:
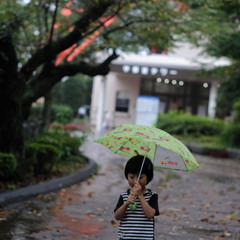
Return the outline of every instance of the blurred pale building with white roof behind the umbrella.
{"type": "Polygon", "coordinates": [[[138,123],[139,116],[146,117],[151,112],[144,115],[142,110],[140,114],[141,97],[149,101],[141,102],[142,106],[146,105],[145,110],[150,105],[153,108],[154,100],[159,100],[159,104],[154,105],[157,106],[155,115],[156,112],[181,109],[214,118],[219,79],[204,74],[202,63],[204,61],[205,68],[211,68],[228,62],[209,57],[194,62],[189,56],[196,57],[197,54],[189,52],[189,46],[183,45],[167,55],[121,54],[112,62],[106,77],[94,79],[91,124],[100,131],[123,123],[138,123]],[[183,57],[182,53],[188,57],[183,57]]]}

